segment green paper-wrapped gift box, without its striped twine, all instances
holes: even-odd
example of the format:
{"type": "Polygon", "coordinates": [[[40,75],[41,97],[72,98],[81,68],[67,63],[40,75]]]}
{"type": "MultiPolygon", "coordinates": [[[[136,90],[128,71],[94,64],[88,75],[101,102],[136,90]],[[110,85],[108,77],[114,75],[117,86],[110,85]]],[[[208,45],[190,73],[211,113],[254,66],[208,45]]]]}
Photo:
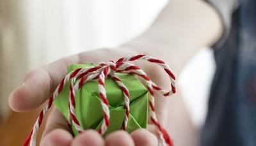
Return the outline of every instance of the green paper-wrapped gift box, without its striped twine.
{"type": "MultiPolygon", "coordinates": [[[[95,66],[93,64],[72,64],[68,73],[77,68],[95,66]]],[[[141,82],[134,77],[124,73],[116,73],[116,76],[124,83],[130,94],[130,115],[126,131],[131,133],[138,128],[147,128],[148,122],[148,91],[141,82]]],[[[79,81],[77,81],[79,82],[79,81]]],[[[58,97],[54,101],[54,106],[68,119],[68,98],[70,81],[63,87],[58,97]]],[[[110,123],[103,136],[116,130],[122,129],[125,118],[124,94],[120,90],[115,80],[106,78],[106,94],[109,101],[110,123]]],[[[99,88],[97,80],[86,82],[81,89],[76,91],[76,116],[83,129],[99,129],[102,121],[102,106],[99,98],[99,88]]],[[[78,132],[72,125],[74,135],[78,132]]]]}

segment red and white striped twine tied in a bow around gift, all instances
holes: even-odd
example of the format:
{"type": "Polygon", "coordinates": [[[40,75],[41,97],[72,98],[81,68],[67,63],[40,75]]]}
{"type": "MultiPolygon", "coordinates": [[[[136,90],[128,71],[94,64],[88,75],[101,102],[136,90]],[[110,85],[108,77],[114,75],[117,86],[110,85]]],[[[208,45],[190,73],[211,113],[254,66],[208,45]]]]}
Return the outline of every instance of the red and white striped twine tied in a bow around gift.
{"type": "Polygon", "coordinates": [[[52,106],[52,102],[54,99],[60,94],[60,92],[63,90],[63,87],[67,84],[67,82],[70,80],[69,85],[69,103],[68,103],[68,124],[74,125],[74,128],[76,128],[78,133],[83,133],[84,129],[81,128],[79,124],[79,120],[76,118],[76,91],[83,87],[83,85],[90,81],[97,79],[99,83],[99,97],[100,97],[100,103],[102,105],[102,115],[103,115],[103,122],[102,125],[99,128],[99,133],[104,134],[105,131],[108,129],[109,126],[109,103],[108,98],[106,96],[106,89],[105,89],[105,79],[106,77],[111,77],[113,80],[115,80],[116,84],[120,87],[124,94],[124,108],[125,108],[125,118],[123,122],[122,129],[126,130],[127,128],[127,122],[129,120],[129,90],[125,85],[122,83],[120,78],[118,78],[115,73],[129,73],[132,75],[136,75],[140,78],[142,78],[147,85],[147,89],[150,92],[150,96],[148,98],[148,103],[150,105],[150,120],[152,120],[153,124],[157,127],[160,143],[159,145],[173,145],[172,139],[166,132],[166,130],[161,126],[161,124],[158,122],[156,117],[156,111],[155,111],[155,105],[154,105],[154,91],[160,92],[163,94],[163,96],[170,96],[173,93],[176,92],[176,86],[175,86],[175,76],[172,73],[172,70],[167,66],[163,61],[159,59],[155,59],[154,57],[150,57],[148,55],[131,55],[128,57],[122,57],[121,59],[118,59],[118,61],[109,61],[107,63],[100,63],[99,66],[90,66],[86,68],[78,68],[66,75],[63,80],[61,80],[60,84],[56,88],[56,90],[53,92],[53,94],[49,97],[49,100],[47,104],[45,105],[44,109],[40,112],[40,115],[36,119],[36,122],[31,129],[31,132],[29,133],[28,137],[26,138],[24,142],[24,146],[30,145],[35,146],[36,145],[36,134],[38,133],[38,129],[40,125],[42,124],[42,120],[44,118],[45,113],[49,108],[52,106]],[[170,77],[171,82],[171,89],[170,91],[164,91],[160,87],[158,87],[150,78],[147,76],[147,74],[140,69],[139,66],[135,66],[134,64],[129,63],[129,61],[136,61],[136,60],[145,60],[148,62],[156,63],[157,65],[161,66],[164,71],[168,74],[170,77]]]}

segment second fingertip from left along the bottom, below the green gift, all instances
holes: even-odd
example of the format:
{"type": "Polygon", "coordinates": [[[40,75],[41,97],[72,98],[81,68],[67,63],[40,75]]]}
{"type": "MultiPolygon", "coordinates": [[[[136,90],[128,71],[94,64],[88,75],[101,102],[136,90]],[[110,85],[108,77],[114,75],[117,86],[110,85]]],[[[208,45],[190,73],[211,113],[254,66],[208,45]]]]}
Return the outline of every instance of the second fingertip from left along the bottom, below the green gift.
{"type": "Polygon", "coordinates": [[[86,130],[84,133],[76,136],[71,144],[72,146],[104,146],[104,139],[95,130],[86,130]]]}

